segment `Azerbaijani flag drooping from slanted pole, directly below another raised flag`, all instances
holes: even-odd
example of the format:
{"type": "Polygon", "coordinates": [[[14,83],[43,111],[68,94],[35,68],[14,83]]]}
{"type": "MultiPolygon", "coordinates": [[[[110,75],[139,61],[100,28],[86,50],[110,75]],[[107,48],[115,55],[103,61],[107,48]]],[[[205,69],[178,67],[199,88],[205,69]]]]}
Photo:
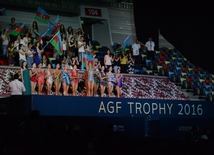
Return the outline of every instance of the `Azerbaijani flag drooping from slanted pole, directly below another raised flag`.
{"type": "Polygon", "coordinates": [[[60,32],[58,31],[53,38],[49,41],[54,48],[57,50],[59,55],[62,55],[62,37],[60,35],[60,32]]]}

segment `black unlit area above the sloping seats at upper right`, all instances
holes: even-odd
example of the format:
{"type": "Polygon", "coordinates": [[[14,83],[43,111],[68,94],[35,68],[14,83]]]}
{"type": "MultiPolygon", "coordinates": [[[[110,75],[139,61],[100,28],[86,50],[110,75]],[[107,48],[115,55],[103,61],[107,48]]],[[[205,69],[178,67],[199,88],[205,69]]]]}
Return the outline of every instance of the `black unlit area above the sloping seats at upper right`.
{"type": "Polygon", "coordinates": [[[137,38],[146,42],[151,36],[158,45],[160,30],[191,63],[213,74],[214,10],[211,2],[133,0],[137,38]]]}

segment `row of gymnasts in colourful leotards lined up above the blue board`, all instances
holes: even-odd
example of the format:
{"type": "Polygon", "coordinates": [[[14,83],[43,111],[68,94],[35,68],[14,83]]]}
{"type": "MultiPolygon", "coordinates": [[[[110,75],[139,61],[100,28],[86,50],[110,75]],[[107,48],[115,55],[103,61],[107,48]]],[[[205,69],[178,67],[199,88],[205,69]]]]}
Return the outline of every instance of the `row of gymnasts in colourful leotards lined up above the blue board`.
{"type": "Polygon", "coordinates": [[[98,67],[94,62],[87,61],[83,74],[80,74],[76,65],[73,65],[71,70],[68,69],[68,65],[63,65],[62,69],[60,67],[60,63],[56,64],[55,69],[48,64],[44,69],[42,63],[39,63],[37,68],[33,63],[29,69],[32,94],[44,94],[43,88],[46,86],[47,95],[60,95],[62,92],[64,96],[77,96],[78,85],[82,81],[86,89],[86,96],[112,97],[115,88],[115,96],[121,97],[123,75],[120,73],[120,68],[113,73],[111,66],[106,71],[105,66],[98,67]],[[52,92],[53,86],[54,92],[52,92]],[[69,88],[71,88],[71,93],[69,93],[69,88]],[[106,90],[107,94],[105,94],[106,90]]]}

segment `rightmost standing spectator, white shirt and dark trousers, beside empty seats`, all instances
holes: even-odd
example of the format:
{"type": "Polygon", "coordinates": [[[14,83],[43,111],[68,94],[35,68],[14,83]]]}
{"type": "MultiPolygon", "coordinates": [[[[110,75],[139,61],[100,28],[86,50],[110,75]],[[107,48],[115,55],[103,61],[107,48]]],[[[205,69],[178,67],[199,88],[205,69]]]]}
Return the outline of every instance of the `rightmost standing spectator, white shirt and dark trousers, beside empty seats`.
{"type": "Polygon", "coordinates": [[[147,59],[154,60],[155,59],[155,43],[152,41],[152,38],[149,37],[149,40],[145,44],[147,49],[147,59]]]}

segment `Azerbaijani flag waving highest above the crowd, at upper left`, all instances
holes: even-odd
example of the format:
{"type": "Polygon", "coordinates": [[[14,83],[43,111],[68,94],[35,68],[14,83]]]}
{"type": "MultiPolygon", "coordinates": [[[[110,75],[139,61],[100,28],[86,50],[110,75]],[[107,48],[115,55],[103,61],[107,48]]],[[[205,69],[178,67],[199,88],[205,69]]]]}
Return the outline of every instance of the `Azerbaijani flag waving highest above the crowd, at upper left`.
{"type": "Polygon", "coordinates": [[[37,20],[41,23],[48,24],[49,19],[50,19],[49,14],[44,9],[38,7],[38,9],[36,11],[36,15],[34,17],[34,20],[37,20]]]}

